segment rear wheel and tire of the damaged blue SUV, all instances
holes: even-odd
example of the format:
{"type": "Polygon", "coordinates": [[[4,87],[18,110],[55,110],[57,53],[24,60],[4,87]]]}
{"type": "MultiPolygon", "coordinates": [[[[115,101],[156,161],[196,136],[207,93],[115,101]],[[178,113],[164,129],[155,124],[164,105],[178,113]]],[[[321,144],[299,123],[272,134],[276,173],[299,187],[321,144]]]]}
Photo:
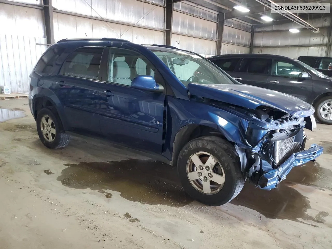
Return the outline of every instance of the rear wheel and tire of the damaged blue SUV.
{"type": "Polygon", "coordinates": [[[37,131],[41,142],[50,149],[68,145],[70,135],[66,134],[54,108],[43,108],[37,115],[37,131]]]}

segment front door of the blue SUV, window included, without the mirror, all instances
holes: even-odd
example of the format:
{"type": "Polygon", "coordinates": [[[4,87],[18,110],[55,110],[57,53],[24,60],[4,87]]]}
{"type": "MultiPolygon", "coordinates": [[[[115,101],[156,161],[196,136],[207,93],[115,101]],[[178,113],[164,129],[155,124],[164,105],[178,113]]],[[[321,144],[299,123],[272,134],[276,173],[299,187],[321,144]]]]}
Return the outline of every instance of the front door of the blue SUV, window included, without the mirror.
{"type": "Polygon", "coordinates": [[[102,133],[112,141],[161,153],[165,93],[130,86],[137,75],[151,75],[164,86],[159,72],[138,52],[116,47],[110,48],[105,68],[99,86],[102,133]]]}

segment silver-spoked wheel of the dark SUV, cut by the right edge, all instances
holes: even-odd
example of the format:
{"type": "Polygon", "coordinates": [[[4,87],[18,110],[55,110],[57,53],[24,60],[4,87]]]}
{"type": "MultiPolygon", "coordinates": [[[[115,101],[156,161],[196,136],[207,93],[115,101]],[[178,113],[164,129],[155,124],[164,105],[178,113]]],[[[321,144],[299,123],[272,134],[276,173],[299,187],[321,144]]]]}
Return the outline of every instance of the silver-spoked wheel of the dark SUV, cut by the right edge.
{"type": "Polygon", "coordinates": [[[317,101],[315,118],[321,124],[332,124],[332,96],[326,96],[317,101]]]}

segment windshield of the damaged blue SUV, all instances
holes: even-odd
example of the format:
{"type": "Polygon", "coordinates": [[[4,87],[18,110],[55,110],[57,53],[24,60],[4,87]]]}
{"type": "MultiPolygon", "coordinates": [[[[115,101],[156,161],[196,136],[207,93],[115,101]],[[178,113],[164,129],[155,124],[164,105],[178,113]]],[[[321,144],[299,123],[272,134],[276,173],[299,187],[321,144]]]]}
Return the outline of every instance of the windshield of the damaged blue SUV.
{"type": "Polygon", "coordinates": [[[187,87],[190,82],[215,85],[235,84],[230,76],[225,75],[211,62],[202,57],[181,50],[151,50],[174,73],[180,82],[187,87]]]}

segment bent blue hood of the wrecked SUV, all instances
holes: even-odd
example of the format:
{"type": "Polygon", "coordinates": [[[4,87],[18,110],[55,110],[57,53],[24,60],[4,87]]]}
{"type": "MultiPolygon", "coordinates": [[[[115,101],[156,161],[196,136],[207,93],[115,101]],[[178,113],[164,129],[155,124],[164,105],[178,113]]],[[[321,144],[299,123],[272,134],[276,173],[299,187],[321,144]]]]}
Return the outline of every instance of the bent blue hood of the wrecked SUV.
{"type": "Polygon", "coordinates": [[[295,117],[307,117],[314,113],[308,103],[291,95],[250,85],[203,85],[189,83],[190,94],[224,103],[256,109],[271,107],[295,117]]]}

